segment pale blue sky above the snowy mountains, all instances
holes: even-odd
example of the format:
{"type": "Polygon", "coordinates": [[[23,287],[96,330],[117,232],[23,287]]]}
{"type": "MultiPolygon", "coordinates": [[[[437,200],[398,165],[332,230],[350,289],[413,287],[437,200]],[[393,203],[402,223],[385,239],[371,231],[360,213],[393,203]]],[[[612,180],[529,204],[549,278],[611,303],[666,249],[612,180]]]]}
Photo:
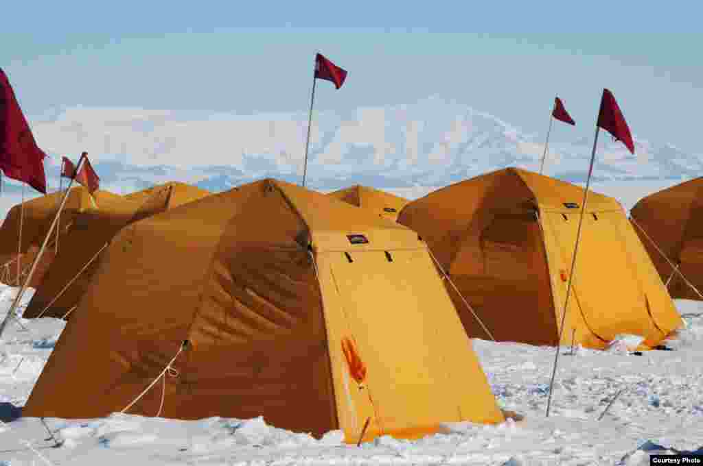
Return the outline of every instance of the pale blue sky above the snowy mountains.
{"type": "Polygon", "coordinates": [[[0,67],[30,116],[305,111],[321,51],[349,78],[318,86],[318,109],[441,95],[545,133],[558,94],[577,122],[564,140],[592,137],[607,87],[633,133],[703,154],[699,2],[48,3],[2,7],[0,67]]]}

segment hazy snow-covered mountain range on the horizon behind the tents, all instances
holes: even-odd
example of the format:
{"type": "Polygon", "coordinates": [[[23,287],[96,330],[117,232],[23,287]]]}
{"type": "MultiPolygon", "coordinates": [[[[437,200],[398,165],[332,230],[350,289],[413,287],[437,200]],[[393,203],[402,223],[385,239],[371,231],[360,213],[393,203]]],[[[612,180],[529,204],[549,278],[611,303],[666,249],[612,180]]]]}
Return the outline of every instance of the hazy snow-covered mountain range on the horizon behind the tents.
{"type": "MultiPolygon", "coordinates": [[[[302,180],[304,113],[185,116],[72,107],[47,115],[33,121],[33,130],[52,154],[46,165],[52,189],[58,187],[60,161],[54,154],[79,152],[76,147],[87,147],[103,186],[116,192],[167,180],[214,192],[269,176],[302,180]]],[[[593,180],[690,179],[702,173],[703,154],[637,135],[635,140],[636,154],[631,155],[601,132],[593,180]]],[[[524,133],[495,116],[438,97],[349,114],[316,112],[307,185],[436,187],[506,166],[538,171],[543,144],[543,134],[524,133]]],[[[585,180],[592,144],[592,138],[550,142],[545,173],[585,180]]]]}

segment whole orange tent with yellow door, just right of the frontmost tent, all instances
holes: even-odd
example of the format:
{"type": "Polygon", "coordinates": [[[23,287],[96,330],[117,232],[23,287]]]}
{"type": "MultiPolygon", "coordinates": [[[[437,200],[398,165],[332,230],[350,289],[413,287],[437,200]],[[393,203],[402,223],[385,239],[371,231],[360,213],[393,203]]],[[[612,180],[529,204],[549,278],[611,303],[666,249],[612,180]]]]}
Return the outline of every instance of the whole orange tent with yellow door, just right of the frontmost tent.
{"type": "MultiPolygon", "coordinates": [[[[408,204],[398,222],[427,241],[498,341],[556,345],[583,188],[506,168],[408,204]]],[[[561,343],[604,348],[620,333],[647,347],[681,317],[620,204],[589,192],[561,343]]],[[[447,284],[471,337],[490,340],[447,284]]]]}

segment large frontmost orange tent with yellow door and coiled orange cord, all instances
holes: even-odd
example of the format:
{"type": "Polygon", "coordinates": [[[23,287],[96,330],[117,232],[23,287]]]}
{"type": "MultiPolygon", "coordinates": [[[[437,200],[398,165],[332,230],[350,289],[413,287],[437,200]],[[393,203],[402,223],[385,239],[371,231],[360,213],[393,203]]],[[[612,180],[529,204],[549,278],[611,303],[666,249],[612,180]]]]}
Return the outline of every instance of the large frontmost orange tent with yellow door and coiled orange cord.
{"type": "MultiPolygon", "coordinates": [[[[367,440],[504,419],[417,234],[285,182],[122,229],[22,412],[121,411],[183,340],[166,418],[263,415],[349,442],[369,418],[367,440]]],[[[156,415],[161,383],[129,413],[156,415]]]]}

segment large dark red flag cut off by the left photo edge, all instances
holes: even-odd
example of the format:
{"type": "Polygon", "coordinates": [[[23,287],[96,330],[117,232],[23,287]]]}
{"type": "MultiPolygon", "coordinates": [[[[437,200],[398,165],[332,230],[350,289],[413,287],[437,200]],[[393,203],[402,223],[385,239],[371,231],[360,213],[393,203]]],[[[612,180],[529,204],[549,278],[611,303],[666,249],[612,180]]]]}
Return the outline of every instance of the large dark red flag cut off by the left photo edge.
{"type": "Polygon", "coordinates": [[[44,151],[37,147],[30,126],[5,72],[0,69],[0,170],[46,194],[44,151]]]}

